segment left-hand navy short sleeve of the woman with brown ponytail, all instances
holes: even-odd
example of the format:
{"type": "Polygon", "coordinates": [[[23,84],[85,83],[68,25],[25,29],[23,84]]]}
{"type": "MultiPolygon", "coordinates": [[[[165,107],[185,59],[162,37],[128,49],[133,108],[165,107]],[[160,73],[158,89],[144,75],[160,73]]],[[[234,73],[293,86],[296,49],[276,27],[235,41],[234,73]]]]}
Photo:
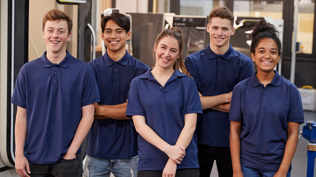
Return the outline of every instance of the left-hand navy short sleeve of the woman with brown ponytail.
{"type": "Polygon", "coordinates": [[[139,77],[136,77],[131,81],[130,90],[128,92],[126,116],[130,118],[133,115],[141,115],[145,117],[145,114],[140,102],[140,97],[139,97],[139,92],[138,92],[138,87],[137,87],[136,80],[138,78],[139,77]]]}

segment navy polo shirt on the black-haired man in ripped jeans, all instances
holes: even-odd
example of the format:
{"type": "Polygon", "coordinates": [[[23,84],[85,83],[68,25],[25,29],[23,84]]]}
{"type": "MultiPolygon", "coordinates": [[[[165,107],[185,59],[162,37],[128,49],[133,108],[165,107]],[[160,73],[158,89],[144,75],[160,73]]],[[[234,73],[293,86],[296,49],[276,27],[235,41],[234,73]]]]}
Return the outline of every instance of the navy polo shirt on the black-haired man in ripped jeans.
{"type": "MultiPolygon", "coordinates": [[[[127,51],[117,62],[106,52],[89,64],[97,80],[100,105],[125,103],[132,79],[149,69],[127,51]]],[[[137,156],[137,135],[132,120],[95,119],[89,131],[87,154],[101,159],[137,156]]]]}

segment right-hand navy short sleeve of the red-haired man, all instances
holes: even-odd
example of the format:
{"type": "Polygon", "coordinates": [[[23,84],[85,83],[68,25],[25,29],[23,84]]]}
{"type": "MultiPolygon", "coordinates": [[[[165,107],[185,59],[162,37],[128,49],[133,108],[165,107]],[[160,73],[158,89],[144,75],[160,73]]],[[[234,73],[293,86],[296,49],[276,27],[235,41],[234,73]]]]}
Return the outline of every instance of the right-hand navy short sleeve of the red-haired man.
{"type": "Polygon", "coordinates": [[[81,106],[87,106],[95,102],[100,102],[100,96],[94,73],[89,65],[83,81],[81,106]]]}

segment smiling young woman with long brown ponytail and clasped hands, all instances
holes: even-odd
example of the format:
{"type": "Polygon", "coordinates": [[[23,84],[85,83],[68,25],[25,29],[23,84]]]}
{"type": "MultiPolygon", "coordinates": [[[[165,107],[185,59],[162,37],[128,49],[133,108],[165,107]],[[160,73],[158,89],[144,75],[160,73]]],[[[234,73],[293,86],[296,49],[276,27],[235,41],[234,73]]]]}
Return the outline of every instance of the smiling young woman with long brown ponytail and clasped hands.
{"type": "Polygon", "coordinates": [[[182,49],[182,31],[164,30],[155,41],[155,66],[131,82],[126,116],[139,133],[138,176],[199,176],[194,130],[202,106],[182,49]]]}

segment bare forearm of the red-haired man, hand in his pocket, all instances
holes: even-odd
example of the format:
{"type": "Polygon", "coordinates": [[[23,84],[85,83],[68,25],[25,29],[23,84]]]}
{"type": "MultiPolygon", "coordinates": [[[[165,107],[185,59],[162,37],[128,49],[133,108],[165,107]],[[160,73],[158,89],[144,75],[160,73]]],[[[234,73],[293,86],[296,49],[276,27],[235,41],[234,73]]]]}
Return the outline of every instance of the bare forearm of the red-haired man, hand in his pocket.
{"type": "Polygon", "coordinates": [[[94,104],[82,107],[82,118],[76,130],[75,136],[68,148],[68,152],[75,154],[87,136],[93,123],[94,104]]]}

